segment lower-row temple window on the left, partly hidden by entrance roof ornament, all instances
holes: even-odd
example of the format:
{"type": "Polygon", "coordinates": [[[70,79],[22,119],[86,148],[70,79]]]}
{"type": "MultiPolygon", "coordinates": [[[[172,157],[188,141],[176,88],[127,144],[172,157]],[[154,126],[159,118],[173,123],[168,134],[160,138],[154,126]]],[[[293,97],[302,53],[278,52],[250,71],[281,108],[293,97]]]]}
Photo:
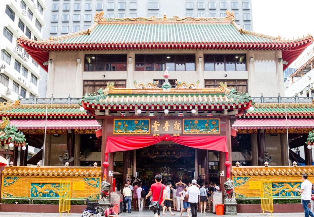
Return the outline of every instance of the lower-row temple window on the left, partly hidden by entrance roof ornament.
{"type": "Polygon", "coordinates": [[[98,89],[107,86],[107,83],[113,82],[115,88],[126,88],[127,80],[84,80],[83,81],[83,94],[96,93],[98,89]]]}

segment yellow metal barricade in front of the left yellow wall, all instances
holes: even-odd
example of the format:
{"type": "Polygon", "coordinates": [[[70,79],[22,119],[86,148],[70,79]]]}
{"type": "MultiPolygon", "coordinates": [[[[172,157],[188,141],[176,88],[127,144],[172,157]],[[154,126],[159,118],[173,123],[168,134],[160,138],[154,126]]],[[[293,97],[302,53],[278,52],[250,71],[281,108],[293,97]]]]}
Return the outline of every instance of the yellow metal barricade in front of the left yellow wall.
{"type": "Polygon", "coordinates": [[[59,213],[70,212],[71,206],[71,182],[60,180],[59,186],[59,213]]]}

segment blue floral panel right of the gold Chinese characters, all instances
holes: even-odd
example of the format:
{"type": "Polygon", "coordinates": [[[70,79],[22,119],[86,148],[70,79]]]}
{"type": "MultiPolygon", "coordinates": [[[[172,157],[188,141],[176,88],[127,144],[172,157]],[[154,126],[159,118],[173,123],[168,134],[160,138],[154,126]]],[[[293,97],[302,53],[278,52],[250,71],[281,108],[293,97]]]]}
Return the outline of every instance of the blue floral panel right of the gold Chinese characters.
{"type": "Polygon", "coordinates": [[[219,133],[219,119],[183,119],[184,134],[219,133]]]}

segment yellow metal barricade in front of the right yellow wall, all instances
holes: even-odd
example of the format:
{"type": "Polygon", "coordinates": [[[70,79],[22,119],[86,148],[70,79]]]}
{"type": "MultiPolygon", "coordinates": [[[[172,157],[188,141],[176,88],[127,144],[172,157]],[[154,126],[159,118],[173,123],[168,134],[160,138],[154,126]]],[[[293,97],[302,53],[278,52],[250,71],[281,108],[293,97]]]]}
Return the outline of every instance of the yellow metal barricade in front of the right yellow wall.
{"type": "Polygon", "coordinates": [[[261,180],[261,205],[264,211],[270,212],[273,216],[273,187],[271,179],[261,180]]]}

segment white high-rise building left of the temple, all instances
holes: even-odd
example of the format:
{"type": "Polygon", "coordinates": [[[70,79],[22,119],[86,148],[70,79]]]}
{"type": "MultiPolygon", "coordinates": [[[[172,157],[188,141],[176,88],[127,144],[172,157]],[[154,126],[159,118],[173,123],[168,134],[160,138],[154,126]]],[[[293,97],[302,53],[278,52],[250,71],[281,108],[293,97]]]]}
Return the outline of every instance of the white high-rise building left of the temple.
{"type": "Polygon", "coordinates": [[[42,39],[44,0],[2,0],[0,8],[0,101],[38,97],[40,67],[17,39],[42,39]]]}

